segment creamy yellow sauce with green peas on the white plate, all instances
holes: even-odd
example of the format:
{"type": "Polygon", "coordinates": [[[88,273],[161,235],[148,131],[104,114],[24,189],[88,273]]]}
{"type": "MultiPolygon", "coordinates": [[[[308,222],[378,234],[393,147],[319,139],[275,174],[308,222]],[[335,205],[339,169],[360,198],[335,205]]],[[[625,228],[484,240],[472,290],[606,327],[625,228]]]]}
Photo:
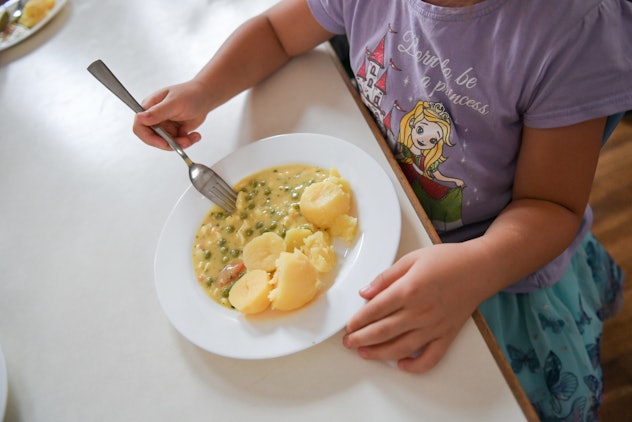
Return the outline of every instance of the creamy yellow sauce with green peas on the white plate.
{"type": "Polygon", "coordinates": [[[193,268],[211,299],[231,307],[228,293],[245,271],[239,262],[244,246],[254,237],[274,232],[285,238],[292,228],[315,229],[301,214],[299,200],[307,186],[328,176],[328,170],[301,164],[269,168],[235,185],[238,197],[234,213],[217,206],[210,210],[195,236],[193,268]],[[225,276],[230,271],[222,271],[227,265],[235,267],[228,281],[225,276]]]}

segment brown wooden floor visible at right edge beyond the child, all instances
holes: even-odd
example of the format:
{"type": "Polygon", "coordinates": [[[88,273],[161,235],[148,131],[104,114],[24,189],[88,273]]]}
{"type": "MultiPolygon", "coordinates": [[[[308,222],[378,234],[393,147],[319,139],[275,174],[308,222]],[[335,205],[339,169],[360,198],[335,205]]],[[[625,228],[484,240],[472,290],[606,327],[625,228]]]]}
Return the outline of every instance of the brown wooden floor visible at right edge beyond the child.
{"type": "Polygon", "coordinates": [[[603,422],[632,421],[632,115],[602,150],[590,196],[593,233],[623,267],[623,309],[605,324],[601,359],[605,378],[603,422]]]}

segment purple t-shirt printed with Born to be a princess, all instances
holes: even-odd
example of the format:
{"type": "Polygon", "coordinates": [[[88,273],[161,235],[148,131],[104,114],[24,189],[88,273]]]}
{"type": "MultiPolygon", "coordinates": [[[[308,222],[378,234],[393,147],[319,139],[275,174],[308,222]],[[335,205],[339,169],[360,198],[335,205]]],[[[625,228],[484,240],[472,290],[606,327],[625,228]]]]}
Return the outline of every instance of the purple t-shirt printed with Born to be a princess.
{"type": "MultiPolygon", "coordinates": [[[[480,236],[511,200],[523,125],[552,128],[632,109],[632,2],[308,0],[349,39],[350,63],[445,242],[480,236]]],[[[557,281],[590,229],[538,273],[557,281]]]]}

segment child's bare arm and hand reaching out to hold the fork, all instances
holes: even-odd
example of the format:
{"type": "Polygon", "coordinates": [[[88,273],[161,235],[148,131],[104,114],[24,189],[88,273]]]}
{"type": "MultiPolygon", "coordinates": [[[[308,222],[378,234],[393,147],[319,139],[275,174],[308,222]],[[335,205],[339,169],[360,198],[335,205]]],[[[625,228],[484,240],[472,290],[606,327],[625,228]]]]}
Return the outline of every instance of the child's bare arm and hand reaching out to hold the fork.
{"type": "Polygon", "coordinates": [[[149,128],[160,124],[188,147],[200,140],[193,131],[209,111],[332,35],[314,19],[306,0],[284,0],[241,25],[191,81],[147,98],[147,111],[136,116],[134,133],[149,145],[170,149],[149,128]]]}

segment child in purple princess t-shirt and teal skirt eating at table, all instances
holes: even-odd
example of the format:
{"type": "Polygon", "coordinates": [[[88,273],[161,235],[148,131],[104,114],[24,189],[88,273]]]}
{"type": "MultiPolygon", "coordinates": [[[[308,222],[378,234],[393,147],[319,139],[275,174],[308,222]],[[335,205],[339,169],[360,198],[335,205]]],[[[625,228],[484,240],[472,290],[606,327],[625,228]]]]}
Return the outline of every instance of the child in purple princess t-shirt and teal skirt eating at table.
{"type": "Polygon", "coordinates": [[[587,206],[606,116],[632,109],[625,0],[284,0],[134,122],[187,147],[207,113],[335,34],[443,243],[360,294],[344,345],[424,372],[479,307],[545,420],[592,420],[622,274],[587,206]]]}

